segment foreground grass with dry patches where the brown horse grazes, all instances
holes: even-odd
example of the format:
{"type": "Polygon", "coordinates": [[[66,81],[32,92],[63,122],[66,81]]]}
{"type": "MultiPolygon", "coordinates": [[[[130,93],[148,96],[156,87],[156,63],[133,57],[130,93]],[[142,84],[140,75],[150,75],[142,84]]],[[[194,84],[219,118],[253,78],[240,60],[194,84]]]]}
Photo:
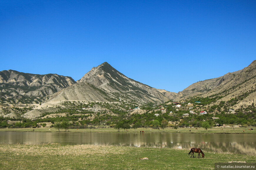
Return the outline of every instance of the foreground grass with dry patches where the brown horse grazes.
{"type": "Polygon", "coordinates": [[[255,162],[256,156],[189,150],[61,144],[0,144],[0,169],[214,169],[215,162],[255,162]],[[195,154],[197,156],[197,154],[195,154]],[[139,158],[148,157],[149,160],[139,158]]]}

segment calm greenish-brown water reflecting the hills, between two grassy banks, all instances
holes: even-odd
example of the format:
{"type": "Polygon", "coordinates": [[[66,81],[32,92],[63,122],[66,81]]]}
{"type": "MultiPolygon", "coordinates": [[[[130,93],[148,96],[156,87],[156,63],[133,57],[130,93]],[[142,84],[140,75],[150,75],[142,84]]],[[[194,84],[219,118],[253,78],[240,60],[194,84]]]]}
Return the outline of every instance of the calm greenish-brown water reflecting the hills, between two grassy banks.
{"type": "Polygon", "coordinates": [[[205,151],[256,155],[255,134],[0,132],[0,144],[94,144],[133,147],[199,147],[205,151]]]}

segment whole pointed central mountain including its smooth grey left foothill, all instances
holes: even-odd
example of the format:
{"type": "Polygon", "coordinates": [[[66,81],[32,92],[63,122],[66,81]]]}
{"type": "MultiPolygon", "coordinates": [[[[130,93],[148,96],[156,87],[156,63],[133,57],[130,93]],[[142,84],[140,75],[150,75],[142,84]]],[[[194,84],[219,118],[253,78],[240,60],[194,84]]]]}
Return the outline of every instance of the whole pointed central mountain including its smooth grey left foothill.
{"type": "Polygon", "coordinates": [[[77,84],[53,95],[51,100],[125,101],[145,104],[163,103],[176,95],[177,93],[155,89],[130,79],[104,62],[98,67],[93,67],[77,84]]]}

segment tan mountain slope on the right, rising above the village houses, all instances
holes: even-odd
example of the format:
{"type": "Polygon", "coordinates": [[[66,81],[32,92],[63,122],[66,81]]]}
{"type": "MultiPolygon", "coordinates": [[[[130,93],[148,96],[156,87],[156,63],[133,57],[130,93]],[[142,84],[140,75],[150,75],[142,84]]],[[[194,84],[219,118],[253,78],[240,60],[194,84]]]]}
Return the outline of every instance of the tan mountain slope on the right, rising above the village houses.
{"type": "MultiPolygon", "coordinates": [[[[233,102],[233,108],[251,105],[256,102],[256,60],[248,67],[222,77],[199,81],[178,93],[180,98],[200,95],[219,96],[217,101],[233,102]],[[231,101],[232,100],[232,101],[231,101]]],[[[213,103],[216,104],[216,103],[213,103]]]]}

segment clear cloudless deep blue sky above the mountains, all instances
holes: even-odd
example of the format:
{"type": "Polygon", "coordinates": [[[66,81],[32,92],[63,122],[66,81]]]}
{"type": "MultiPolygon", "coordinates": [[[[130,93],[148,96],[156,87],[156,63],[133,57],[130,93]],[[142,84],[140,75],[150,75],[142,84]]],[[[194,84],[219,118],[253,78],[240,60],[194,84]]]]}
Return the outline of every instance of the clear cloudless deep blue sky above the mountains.
{"type": "Polygon", "coordinates": [[[0,1],[0,70],[81,79],[108,62],[179,92],[256,59],[256,1],[0,1]]]}

